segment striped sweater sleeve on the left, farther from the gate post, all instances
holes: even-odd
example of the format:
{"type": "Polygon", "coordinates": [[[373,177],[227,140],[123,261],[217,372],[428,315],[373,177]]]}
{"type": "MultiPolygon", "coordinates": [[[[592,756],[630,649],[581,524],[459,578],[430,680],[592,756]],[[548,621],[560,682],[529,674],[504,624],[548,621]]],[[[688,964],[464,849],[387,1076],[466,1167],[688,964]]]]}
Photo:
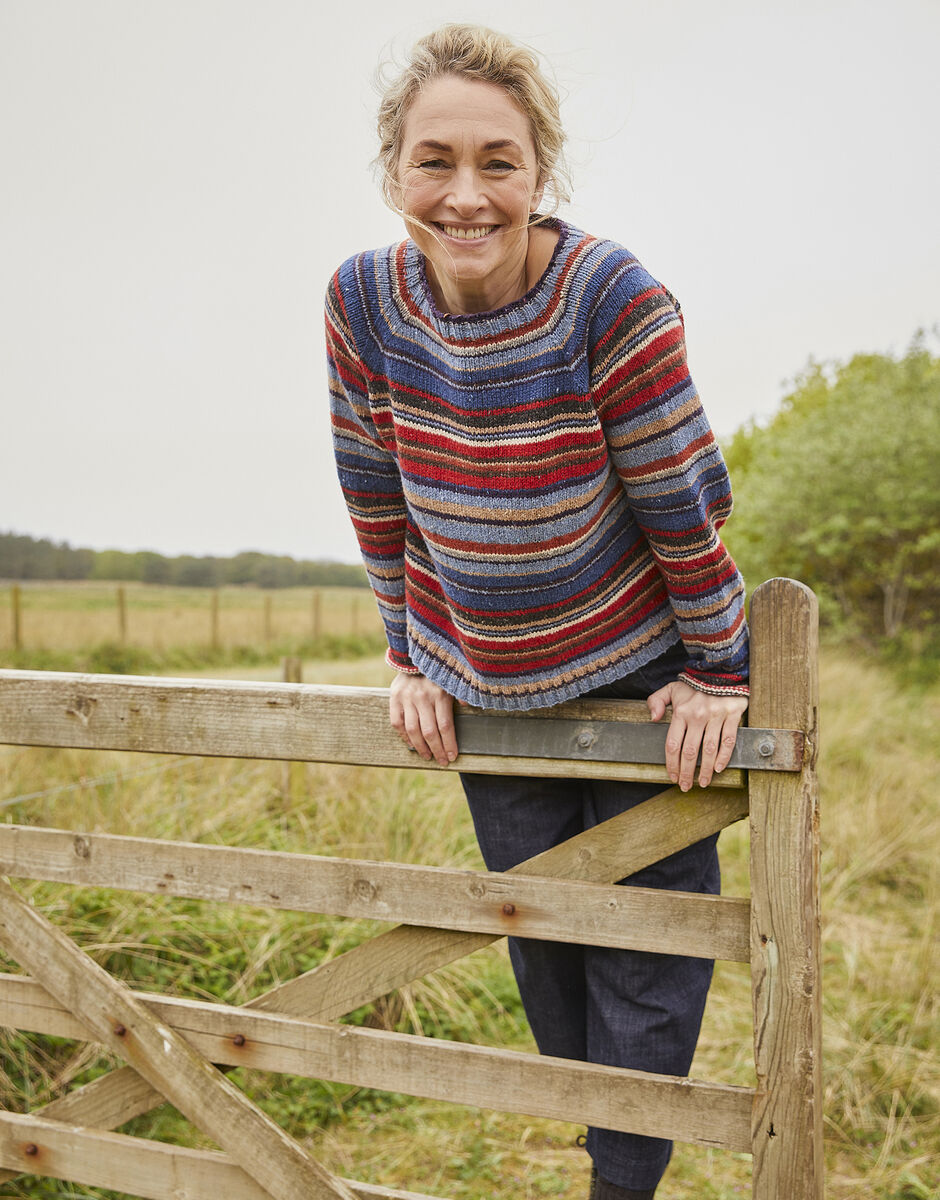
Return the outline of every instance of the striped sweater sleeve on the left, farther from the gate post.
{"type": "Polygon", "coordinates": [[[353,341],[339,271],[327,289],[325,316],[330,424],[340,486],[385,625],[387,661],[399,671],[417,673],[408,658],[405,619],[407,514],[401,474],[372,415],[370,372],[353,341]]]}

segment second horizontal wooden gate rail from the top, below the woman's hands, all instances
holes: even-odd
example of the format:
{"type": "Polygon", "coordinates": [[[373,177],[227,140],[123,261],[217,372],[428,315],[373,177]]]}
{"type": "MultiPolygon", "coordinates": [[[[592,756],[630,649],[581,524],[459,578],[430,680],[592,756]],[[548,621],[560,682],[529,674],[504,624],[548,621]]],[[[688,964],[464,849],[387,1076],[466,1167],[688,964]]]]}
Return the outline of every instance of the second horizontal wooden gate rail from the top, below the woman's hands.
{"type": "MultiPolygon", "coordinates": [[[[618,868],[622,870],[622,868],[618,868]]],[[[0,874],[747,962],[746,900],[491,871],[0,826],[0,874]]]]}

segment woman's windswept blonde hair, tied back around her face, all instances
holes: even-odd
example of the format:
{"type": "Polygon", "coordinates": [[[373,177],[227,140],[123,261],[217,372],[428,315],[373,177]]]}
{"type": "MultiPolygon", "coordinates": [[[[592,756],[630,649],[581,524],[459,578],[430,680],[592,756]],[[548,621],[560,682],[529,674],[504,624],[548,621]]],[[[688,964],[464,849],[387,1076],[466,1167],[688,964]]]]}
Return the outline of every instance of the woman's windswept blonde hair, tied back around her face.
{"type": "Polygon", "coordinates": [[[539,168],[539,186],[553,197],[555,208],[567,200],[568,170],[562,148],[564,130],[558,113],[558,91],[545,77],[538,56],[504,34],[483,25],[442,25],[412,49],[405,68],[391,80],[379,76],[379,149],[387,203],[399,211],[390,188],[397,181],[402,128],[415,96],[432,79],[455,74],[503,88],[528,118],[539,168]]]}

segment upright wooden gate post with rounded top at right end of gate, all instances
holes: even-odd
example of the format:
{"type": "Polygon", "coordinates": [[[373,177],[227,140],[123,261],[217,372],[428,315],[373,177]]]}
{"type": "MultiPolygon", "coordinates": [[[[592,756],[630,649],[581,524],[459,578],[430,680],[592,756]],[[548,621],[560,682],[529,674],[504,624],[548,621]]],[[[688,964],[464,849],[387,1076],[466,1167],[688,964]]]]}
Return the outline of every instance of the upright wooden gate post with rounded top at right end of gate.
{"type": "Polygon", "coordinates": [[[750,772],[754,1200],[822,1200],[816,598],[770,580],[750,601],[750,724],[802,730],[803,769],[750,772]]]}

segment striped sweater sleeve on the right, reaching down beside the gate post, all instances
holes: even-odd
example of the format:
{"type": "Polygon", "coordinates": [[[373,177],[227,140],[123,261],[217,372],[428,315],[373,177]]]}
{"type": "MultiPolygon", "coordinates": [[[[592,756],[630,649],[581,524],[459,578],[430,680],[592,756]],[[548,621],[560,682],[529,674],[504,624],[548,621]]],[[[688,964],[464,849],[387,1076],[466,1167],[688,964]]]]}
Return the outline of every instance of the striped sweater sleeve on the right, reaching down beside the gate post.
{"type": "Polygon", "coordinates": [[[681,678],[747,695],[744,584],[718,535],[731,485],[685,364],[682,318],[633,260],[591,332],[594,403],[630,509],[659,568],[689,655],[681,678]]]}

